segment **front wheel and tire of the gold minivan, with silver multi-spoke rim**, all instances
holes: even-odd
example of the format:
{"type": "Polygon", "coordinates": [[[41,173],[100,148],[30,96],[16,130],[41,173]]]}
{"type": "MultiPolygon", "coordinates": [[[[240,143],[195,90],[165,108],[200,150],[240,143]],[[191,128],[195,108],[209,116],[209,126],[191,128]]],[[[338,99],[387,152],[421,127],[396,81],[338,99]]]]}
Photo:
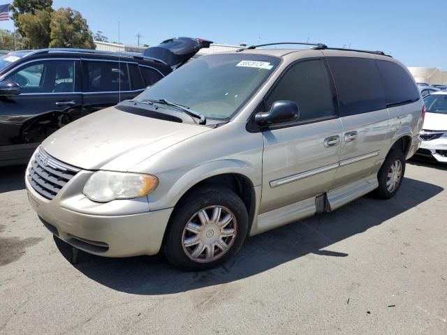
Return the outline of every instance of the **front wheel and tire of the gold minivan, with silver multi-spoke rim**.
{"type": "Polygon", "coordinates": [[[176,267],[210,269],[239,251],[247,230],[244,202],[228,188],[204,186],[175,207],[163,251],[176,267]]]}

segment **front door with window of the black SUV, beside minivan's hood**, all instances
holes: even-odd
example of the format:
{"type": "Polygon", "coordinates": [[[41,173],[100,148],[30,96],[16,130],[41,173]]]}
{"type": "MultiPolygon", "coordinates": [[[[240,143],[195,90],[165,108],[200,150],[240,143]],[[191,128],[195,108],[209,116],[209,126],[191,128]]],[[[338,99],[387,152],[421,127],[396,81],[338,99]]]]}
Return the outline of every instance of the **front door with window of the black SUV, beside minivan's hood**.
{"type": "Polygon", "coordinates": [[[45,137],[82,116],[75,59],[36,60],[7,75],[17,96],[0,96],[0,161],[24,160],[45,137]]]}

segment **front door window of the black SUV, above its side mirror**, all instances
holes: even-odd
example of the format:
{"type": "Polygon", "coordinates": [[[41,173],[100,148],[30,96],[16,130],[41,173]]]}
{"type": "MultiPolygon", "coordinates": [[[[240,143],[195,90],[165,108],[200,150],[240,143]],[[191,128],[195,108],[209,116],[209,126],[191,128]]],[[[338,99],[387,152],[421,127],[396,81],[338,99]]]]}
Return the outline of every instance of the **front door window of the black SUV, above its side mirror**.
{"type": "Polygon", "coordinates": [[[36,61],[15,70],[6,79],[17,82],[22,93],[73,92],[73,61],[36,61]]]}

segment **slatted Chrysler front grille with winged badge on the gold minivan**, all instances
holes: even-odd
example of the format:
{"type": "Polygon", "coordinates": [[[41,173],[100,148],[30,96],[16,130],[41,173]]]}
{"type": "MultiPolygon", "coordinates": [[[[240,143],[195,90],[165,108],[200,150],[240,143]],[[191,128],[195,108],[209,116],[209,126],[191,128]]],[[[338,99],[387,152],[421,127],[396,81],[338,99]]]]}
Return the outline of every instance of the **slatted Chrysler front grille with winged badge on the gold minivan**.
{"type": "Polygon", "coordinates": [[[38,149],[32,158],[27,178],[37,193],[52,200],[79,171],[52,158],[43,149],[38,149]]]}

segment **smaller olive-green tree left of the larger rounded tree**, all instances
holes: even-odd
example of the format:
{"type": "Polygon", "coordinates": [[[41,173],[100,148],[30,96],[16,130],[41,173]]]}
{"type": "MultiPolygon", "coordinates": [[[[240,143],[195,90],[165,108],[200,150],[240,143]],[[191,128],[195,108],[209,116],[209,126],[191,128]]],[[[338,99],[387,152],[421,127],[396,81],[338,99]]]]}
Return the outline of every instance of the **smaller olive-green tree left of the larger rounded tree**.
{"type": "Polygon", "coordinates": [[[20,14],[17,25],[20,26],[24,47],[43,49],[50,44],[51,14],[47,10],[36,10],[33,13],[20,14]]]}

